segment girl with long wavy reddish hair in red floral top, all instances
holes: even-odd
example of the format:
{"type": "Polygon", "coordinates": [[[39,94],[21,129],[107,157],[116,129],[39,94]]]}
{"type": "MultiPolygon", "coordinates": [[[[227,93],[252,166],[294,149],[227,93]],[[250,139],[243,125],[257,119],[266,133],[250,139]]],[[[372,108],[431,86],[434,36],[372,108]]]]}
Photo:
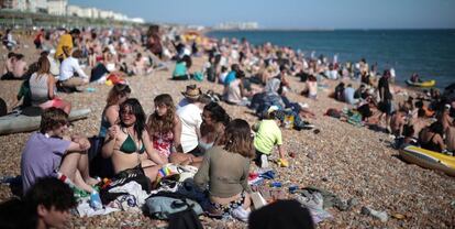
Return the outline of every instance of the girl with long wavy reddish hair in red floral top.
{"type": "Polygon", "coordinates": [[[154,103],[155,112],[148,117],[147,131],[153,148],[168,162],[171,152],[184,152],[180,144],[181,122],[176,115],[173,97],[168,94],[155,97],[154,103]]]}

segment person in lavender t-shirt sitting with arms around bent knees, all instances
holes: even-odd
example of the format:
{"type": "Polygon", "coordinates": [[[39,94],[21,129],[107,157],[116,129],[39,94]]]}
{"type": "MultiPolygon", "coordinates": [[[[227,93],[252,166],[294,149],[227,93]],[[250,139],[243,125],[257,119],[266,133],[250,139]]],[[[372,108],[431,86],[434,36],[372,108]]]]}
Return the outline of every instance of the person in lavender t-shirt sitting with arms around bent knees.
{"type": "Polygon", "coordinates": [[[77,134],[66,135],[68,123],[68,115],[62,109],[53,107],[43,112],[40,131],[30,137],[22,152],[23,193],[37,178],[53,176],[91,193],[93,200],[100,204],[99,194],[91,187],[98,181],[89,175],[87,150],[90,142],[77,134]]]}

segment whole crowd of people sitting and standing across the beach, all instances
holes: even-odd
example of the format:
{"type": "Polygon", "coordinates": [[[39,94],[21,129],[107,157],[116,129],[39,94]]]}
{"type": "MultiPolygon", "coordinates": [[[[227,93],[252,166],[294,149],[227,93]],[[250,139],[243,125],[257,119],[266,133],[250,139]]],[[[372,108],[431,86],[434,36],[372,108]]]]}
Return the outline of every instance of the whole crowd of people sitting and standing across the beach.
{"type": "MultiPolygon", "coordinates": [[[[141,183],[144,190],[159,185],[163,168],[168,163],[195,166],[198,168],[193,175],[196,187],[206,193],[210,201],[204,210],[247,221],[252,207],[251,163],[260,168],[269,167],[276,149],[278,165],[289,166],[280,128],[313,128],[309,120],[315,118],[314,112],[307,103],[290,101],[287,94],[300,90],[309,99],[318,100],[319,88],[330,81],[340,81],[333,97],[360,113],[364,123],[381,126],[385,122],[386,131],[397,139],[402,137],[404,143],[436,152],[455,150],[455,102],[433,92],[430,98],[417,98],[415,102],[409,98],[398,103],[393,100],[398,91],[390,85],[395,70],[386,69],[378,77],[377,66],[368,67],[365,59],[342,65],[336,56],[329,61],[324,56],[304,56],[290,47],[270,43],[252,45],[246,40],[235,39],[204,40],[197,44],[185,41],[173,29],[159,30],[153,25],[147,31],[40,30],[34,44],[41,54],[36,63],[27,66],[23,55],[13,53],[15,43],[10,40],[13,40],[11,31],[7,31],[8,43],[3,41],[3,44],[11,53],[2,79],[23,80],[12,107],[23,100],[21,110],[42,109],[40,131],[30,137],[21,160],[23,201],[34,203],[37,225],[57,226],[43,212],[67,214],[76,205],[69,197],[73,200],[65,199],[65,203],[33,199],[38,198],[36,193],[43,193],[41,185],[60,185],[52,178],[40,179],[42,177],[57,177],[74,189],[88,193],[90,207],[102,208],[103,195],[97,186],[102,182],[90,173],[93,162],[89,160],[89,151],[104,159],[97,161],[101,163],[97,166],[104,170],[103,175],[108,174],[112,181],[138,175],[146,181],[141,183]],[[193,70],[192,57],[202,51],[208,61],[203,69],[193,70]],[[181,92],[184,99],[176,101],[168,94],[157,95],[154,111],[145,113],[141,101],[130,98],[132,89],[125,79],[167,67],[168,61],[176,62],[169,78],[200,80],[202,75],[213,84],[223,85],[223,91],[203,92],[190,83],[181,92]],[[86,67],[90,68],[90,74],[84,70],[86,67]],[[292,85],[290,77],[298,77],[302,84],[292,85]],[[344,81],[351,79],[359,79],[358,89],[354,88],[355,83],[345,87],[344,81]],[[71,103],[59,98],[58,92],[81,91],[90,83],[106,81],[110,81],[112,88],[100,117],[98,138],[102,142],[100,148],[93,149],[93,142],[82,134],[66,134],[71,103]],[[246,106],[260,120],[251,126],[231,117],[220,101],[246,106]],[[431,118],[436,121],[431,122],[431,118]]],[[[70,196],[63,187],[55,192],[70,196]]],[[[302,210],[298,208],[296,212],[302,210]]],[[[270,206],[267,210],[271,209],[270,206]]],[[[264,218],[267,211],[252,214],[252,228],[255,221],[264,222],[256,219],[259,215],[264,218]]],[[[312,227],[311,218],[302,223],[312,227]]]]}

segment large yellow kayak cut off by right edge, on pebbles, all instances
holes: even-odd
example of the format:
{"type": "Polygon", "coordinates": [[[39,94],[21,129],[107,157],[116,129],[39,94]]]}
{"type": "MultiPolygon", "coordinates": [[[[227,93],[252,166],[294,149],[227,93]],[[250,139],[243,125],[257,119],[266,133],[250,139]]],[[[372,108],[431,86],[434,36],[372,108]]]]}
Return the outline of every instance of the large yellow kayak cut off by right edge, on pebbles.
{"type": "Polygon", "coordinates": [[[414,145],[408,145],[401,149],[400,156],[404,161],[421,167],[442,171],[450,176],[455,176],[455,156],[429,151],[414,145]]]}

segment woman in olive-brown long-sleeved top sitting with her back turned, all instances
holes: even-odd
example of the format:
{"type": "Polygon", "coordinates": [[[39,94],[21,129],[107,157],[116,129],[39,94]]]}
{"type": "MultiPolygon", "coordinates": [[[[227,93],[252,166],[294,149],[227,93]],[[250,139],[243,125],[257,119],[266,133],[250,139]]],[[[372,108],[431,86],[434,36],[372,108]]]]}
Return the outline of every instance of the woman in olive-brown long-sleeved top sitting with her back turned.
{"type": "Polygon", "coordinates": [[[195,175],[195,184],[206,190],[209,187],[214,215],[229,215],[247,221],[249,215],[251,187],[248,173],[254,157],[248,122],[231,121],[225,128],[220,144],[206,152],[201,166],[195,175]]]}

